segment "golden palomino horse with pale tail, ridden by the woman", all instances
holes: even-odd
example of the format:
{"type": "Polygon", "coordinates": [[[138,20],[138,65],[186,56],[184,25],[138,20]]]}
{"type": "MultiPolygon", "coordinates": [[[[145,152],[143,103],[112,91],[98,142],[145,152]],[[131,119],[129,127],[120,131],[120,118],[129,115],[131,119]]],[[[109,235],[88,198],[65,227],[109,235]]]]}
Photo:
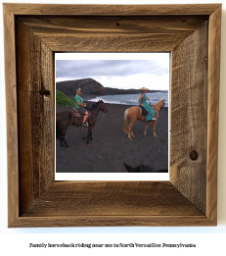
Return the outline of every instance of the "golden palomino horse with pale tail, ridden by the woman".
{"type": "MultiPolygon", "coordinates": [[[[155,111],[155,118],[158,120],[158,112],[160,109],[164,108],[164,99],[159,99],[154,106],[152,106],[154,111],[155,111]]],[[[123,130],[127,134],[128,133],[128,138],[132,140],[132,137],[135,137],[133,132],[132,132],[132,127],[135,123],[136,120],[146,122],[145,121],[145,116],[141,115],[141,108],[138,106],[133,106],[125,110],[124,113],[124,122],[123,122],[123,130]],[[129,122],[129,126],[128,126],[129,122]]],[[[156,134],[156,125],[157,125],[157,120],[151,121],[153,123],[153,132],[154,136],[157,137],[156,134]]],[[[146,130],[149,127],[149,122],[146,122],[146,128],[144,134],[146,135],[146,130]]]]}

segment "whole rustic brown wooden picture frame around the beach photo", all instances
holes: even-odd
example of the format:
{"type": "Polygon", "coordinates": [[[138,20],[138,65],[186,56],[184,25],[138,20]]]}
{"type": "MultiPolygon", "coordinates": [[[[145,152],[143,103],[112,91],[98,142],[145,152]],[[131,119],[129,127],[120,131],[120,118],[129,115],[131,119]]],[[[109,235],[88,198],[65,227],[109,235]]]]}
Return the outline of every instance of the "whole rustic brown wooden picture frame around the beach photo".
{"type": "Polygon", "coordinates": [[[3,8],[9,227],[216,226],[221,4],[3,8]],[[171,52],[169,181],[54,180],[62,51],[171,52]]]}

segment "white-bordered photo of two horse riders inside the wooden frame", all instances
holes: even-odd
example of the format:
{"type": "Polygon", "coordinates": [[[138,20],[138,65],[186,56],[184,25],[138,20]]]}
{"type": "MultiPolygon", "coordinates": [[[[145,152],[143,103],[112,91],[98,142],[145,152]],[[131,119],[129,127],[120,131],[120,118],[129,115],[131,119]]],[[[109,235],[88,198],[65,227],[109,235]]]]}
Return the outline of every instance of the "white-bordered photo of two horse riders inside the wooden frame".
{"type": "Polygon", "coordinates": [[[56,53],[55,180],[168,180],[170,53],[56,53]]]}

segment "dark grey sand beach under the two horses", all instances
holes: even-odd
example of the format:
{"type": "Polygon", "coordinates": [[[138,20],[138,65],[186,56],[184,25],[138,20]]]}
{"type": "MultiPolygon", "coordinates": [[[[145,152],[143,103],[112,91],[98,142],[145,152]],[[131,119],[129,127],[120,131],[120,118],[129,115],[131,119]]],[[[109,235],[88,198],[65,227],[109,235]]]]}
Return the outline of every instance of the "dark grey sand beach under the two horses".
{"type": "MultiPolygon", "coordinates": [[[[154,171],[168,169],[168,108],[159,112],[158,137],[153,135],[152,123],[145,136],[145,124],[136,121],[133,126],[135,138],[130,141],[122,130],[124,111],[130,106],[106,104],[106,107],[108,113],[100,112],[90,146],[85,141],[87,128],[79,132],[79,128],[68,127],[68,148],[61,147],[56,140],[56,172],[127,173],[123,162],[134,168],[149,165],[154,171]]],[[[72,107],[56,107],[56,113],[71,110],[72,107]]]]}

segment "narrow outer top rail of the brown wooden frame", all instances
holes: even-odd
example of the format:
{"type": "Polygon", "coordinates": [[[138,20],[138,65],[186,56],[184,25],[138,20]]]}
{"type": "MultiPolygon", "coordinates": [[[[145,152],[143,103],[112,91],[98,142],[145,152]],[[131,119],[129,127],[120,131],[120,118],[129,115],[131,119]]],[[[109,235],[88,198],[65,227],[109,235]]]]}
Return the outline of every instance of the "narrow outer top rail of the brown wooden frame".
{"type": "Polygon", "coordinates": [[[176,16],[211,15],[219,4],[191,5],[54,5],[5,3],[15,15],[176,16]]]}

